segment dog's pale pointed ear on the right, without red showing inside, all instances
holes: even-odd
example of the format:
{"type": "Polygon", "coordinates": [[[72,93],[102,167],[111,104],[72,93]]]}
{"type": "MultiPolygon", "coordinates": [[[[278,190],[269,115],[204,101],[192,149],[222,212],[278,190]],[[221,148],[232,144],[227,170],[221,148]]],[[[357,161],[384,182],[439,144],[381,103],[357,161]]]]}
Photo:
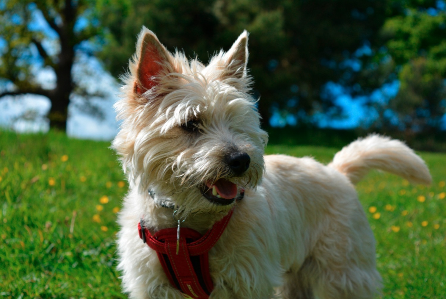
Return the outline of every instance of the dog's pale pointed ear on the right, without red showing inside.
{"type": "Polygon", "coordinates": [[[247,75],[248,63],[248,31],[244,30],[237,38],[231,49],[223,57],[226,66],[225,76],[232,78],[244,78],[247,75]]]}

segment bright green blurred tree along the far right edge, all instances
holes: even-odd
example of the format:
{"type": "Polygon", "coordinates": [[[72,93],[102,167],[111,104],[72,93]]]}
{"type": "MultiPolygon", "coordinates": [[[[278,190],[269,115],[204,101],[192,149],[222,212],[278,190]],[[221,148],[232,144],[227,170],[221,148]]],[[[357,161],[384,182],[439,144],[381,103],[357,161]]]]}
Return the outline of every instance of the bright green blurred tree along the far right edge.
{"type": "Polygon", "coordinates": [[[405,12],[386,20],[381,31],[400,80],[388,108],[408,133],[440,129],[446,113],[445,8],[444,1],[407,1],[405,12]]]}

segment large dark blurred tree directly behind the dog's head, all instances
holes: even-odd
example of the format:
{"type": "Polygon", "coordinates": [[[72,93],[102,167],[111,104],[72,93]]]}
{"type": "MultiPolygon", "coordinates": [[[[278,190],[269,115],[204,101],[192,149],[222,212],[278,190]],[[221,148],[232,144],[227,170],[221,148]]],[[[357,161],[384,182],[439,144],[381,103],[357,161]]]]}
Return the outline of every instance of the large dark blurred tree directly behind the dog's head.
{"type": "MultiPolygon", "coordinates": [[[[398,10],[389,10],[389,2],[398,1],[127,0],[124,12],[117,13],[112,5],[102,11],[109,29],[102,57],[112,74],[122,74],[135,51],[136,34],[145,25],[169,50],[179,47],[207,62],[247,29],[248,66],[254,91],[261,96],[260,114],[268,121],[276,108],[305,119],[334,108],[333,99],[321,97],[328,81],[348,86],[359,82],[359,71],[345,61],[355,58],[366,42],[375,47],[378,29],[398,10]]],[[[367,62],[369,57],[355,59],[367,62]]]]}

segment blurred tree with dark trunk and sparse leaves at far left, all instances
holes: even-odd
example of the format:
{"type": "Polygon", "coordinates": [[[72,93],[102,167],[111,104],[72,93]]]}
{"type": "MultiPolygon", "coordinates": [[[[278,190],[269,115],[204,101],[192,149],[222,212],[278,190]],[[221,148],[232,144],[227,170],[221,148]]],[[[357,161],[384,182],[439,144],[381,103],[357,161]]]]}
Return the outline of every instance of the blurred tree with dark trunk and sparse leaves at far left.
{"type": "MultiPolygon", "coordinates": [[[[94,54],[91,44],[101,33],[95,18],[95,1],[8,0],[0,4],[0,98],[24,94],[41,95],[51,102],[51,128],[66,130],[70,96],[85,94],[74,82],[72,69],[78,54],[94,54]],[[45,24],[39,26],[39,21],[45,24]],[[53,88],[37,80],[37,70],[54,73],[53,88]]],[[[87,101],[85,108],[94,110],[87,101]]]]}

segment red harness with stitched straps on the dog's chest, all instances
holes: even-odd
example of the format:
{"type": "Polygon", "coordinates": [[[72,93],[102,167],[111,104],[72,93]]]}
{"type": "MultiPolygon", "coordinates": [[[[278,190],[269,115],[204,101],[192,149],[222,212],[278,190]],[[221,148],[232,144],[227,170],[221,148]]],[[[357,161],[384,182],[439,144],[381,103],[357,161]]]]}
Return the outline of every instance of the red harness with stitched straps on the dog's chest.
{"type": "Polygon", "coordinates": [[[186,298],[208,299],[214,285],[209,273],[208,252],[219,240],[231,219],[232,210],[203,236],[191,228],[180,228],[177,254],[177,228],[161,229],[153,236],[138,223],[140,238],[155,250],[170,283],[186,298]]]}

